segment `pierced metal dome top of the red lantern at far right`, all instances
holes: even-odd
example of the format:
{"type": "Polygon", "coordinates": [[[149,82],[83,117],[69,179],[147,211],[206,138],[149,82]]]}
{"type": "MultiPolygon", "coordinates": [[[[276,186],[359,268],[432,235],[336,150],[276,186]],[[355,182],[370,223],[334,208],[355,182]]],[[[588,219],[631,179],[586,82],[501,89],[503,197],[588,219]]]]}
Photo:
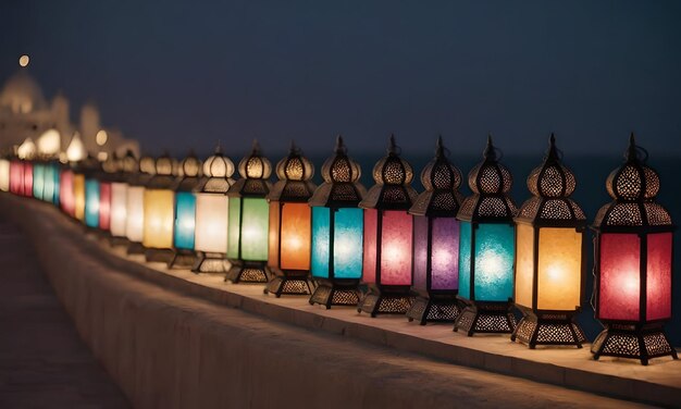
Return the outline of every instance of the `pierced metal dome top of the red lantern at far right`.
{"type": "Polygon", "coordinates": [[[669,212],[655,202],[660,187],[659,176],[645,164],[647,152],[629,138],[624,163],[612,171],[606,188],[612,200],[598,210],[593,227],[616,231],[619,227],[647,227],[669,230],[672,227],[669,212]]]}

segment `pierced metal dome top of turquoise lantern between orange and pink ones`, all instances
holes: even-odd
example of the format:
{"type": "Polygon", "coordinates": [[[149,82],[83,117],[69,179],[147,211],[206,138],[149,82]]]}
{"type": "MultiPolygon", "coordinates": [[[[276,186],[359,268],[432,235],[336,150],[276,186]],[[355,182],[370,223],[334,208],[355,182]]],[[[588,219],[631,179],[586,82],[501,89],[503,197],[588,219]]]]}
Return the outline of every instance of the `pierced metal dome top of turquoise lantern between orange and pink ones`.
{"type": "Polygon", "coordinates": [[[362,200],[367,190],[359,183],[361,168],[347,154],[343,137],[336,138],[334,156],[326,159],[322,165],[324,183],[319,186],[310,206],[354,208],[362,200]]]}

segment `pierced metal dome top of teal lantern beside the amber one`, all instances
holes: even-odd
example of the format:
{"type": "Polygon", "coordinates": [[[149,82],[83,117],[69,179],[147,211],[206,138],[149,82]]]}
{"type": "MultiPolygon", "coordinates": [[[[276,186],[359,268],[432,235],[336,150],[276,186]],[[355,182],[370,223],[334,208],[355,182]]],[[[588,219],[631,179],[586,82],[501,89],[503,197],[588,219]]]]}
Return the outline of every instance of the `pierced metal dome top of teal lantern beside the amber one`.
{"type": "Polygon", "coordinates": [[[470,222],[510,222],[518,211],[508,196],[512,182],[508,168],[498,161],[492,136],[487,136],[483,161],[468,174],[468,186],[473,195],[463,200],[457,219],[470,222]]]}

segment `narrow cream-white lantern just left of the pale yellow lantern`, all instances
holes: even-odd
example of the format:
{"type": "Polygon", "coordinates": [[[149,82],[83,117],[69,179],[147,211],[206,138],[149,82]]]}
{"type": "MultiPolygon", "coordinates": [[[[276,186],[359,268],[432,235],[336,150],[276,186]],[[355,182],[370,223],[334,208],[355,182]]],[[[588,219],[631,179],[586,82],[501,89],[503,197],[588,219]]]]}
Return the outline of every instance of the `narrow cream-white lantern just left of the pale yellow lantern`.
{"type": "Polygon", "coordinates": [[[139,172],[133,174],[128,181],[125,203],[125,236],[129,245],[128,255],[141,255],[145,248],[141,245],[145,231],[145,186],[156,172],[153,158],[144,157],[139,160],[139,172]]]}

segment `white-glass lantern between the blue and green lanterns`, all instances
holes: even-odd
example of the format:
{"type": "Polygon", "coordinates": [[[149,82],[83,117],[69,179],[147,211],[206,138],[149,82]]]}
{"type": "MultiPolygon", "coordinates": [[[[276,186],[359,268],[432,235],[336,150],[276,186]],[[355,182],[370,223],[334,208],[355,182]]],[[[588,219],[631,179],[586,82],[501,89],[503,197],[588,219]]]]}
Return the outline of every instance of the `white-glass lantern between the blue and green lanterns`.
{"type": "Polygon", "coordinates": [[[194,249],[198,259],[195,273],[224,273],[227,250],[227,190],[234,184],[234,163],[222,154],[220,145],[215,153],[203,162],[206,178],[196,195],[196,226],[194,249]]]}

